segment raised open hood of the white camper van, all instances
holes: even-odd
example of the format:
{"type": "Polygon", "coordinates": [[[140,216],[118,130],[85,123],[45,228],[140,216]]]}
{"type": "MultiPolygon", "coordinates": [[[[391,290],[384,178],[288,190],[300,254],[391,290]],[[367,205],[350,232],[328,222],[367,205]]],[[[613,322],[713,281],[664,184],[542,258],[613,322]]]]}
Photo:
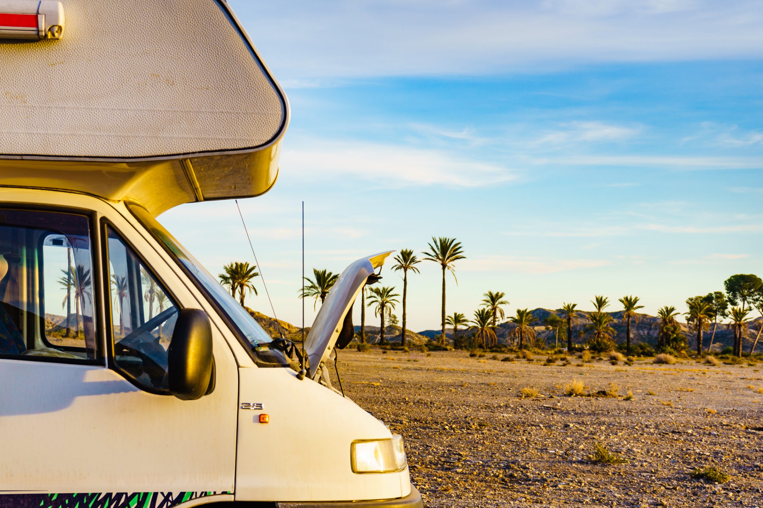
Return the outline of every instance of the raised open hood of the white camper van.
{"type": "Polygon", "coordinates": [[[394,250],[380,252],[374,256],[358,259],[344,269],[337,279],[324,304],[320,306],[310,333],[304,339],[304,351],[310,358],[308,377],[313,378],[320,362],[325,362],[331,354],[336,339],[342,330],[342,323],[347,312],[353,308],[360,290],[376,268],[384,264],[385,259],[394,250]]]}

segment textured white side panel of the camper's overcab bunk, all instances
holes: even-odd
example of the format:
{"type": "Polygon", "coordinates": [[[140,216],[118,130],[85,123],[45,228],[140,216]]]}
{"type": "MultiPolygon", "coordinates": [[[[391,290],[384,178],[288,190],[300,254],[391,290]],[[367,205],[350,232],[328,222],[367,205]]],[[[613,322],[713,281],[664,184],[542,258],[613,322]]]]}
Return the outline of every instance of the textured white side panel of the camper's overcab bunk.
{"type": "Polygon", "coordinates": [[[285,128],[285,97],[226,5],[62,3],[61,40],[0,40],[0,157],[252,150],[285,128]]]}

